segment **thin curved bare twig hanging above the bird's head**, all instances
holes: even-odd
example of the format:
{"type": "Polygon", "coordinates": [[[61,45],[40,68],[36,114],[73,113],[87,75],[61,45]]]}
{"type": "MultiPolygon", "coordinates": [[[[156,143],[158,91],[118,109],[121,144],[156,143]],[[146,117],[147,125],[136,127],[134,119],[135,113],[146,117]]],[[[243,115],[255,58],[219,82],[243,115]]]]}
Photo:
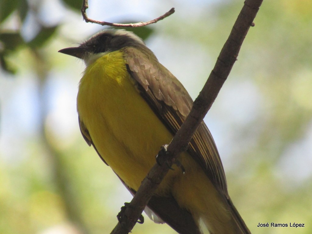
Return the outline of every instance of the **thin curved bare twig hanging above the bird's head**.
{"type": "Polygon", "coordinates": [[[147,22],[138,22],[138,23],[133,23],[133,24],[119,24],[119,23],[110,23],[110,22],[105,22],[105,21],[98,21],[98,20],[93,20],[90,19],[87,16],[86,10],[88,9],[88,0],[83,0],[82,3],[82,7],[81,7],[81,13],[82,13],[82,17],[86,22],[91,22],[91,23],[96,23],[96,24],[100,24],[100,25],[108,25],[108,26],[113,26],[113,27],[127,27],[127,28],[135,28],[135,27],[141,27],[141,26],[146,26],[149,24],[154,24],[157,23],[160,20],[163,20],[164,18],[172,15],[174,13],[174,8],[171,8],[168,12],[166,12],[165,14],[163,14],[162,16],[154,19],[154,20],[150,20],[147,22]]]}

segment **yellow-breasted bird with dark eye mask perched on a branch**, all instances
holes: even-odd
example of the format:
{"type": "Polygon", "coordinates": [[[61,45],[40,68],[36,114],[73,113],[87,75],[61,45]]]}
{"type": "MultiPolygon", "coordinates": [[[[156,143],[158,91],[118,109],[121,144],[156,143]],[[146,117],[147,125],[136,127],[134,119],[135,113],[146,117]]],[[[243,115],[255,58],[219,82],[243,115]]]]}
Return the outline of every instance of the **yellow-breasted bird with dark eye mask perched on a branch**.
{"type": "MultiPolygon", "coordinates": [[[[131,193],[185,120],[193,100],[143,40],[124,30],[100,31],[59,52],[84,60],[77,111],[82,136],[131,193]]],[[[204,122],[146,208],[180,234],[250,233],[227,192],[217,147],[204,122]]]]}

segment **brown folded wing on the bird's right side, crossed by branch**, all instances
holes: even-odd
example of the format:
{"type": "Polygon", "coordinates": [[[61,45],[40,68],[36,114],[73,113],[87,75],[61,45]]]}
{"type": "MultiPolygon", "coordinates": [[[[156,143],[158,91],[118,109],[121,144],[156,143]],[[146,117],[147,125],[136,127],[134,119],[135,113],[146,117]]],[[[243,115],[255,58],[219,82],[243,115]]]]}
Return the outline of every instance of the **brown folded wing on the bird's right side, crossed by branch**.
{"type": "MultiPolygon", "coordinates": [[[[181,127],[193,106],[193,100],[183,85],[157,58],[151,56],[148,48],[124,48],[127,69],[141,96],[149,103],[159,119],[175,134],[181,127]]],[[[206,124],[202,122],[195,132],[188,153],[192,155],[212,184],[226,195],[227,183],[220,156],[206,124]]]]}

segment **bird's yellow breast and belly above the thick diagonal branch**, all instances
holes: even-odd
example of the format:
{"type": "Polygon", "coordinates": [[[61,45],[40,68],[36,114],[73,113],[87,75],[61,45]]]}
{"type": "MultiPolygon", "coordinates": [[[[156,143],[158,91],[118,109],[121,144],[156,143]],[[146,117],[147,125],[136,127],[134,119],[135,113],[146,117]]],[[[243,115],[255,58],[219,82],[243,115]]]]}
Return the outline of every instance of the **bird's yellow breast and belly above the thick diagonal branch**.
{"type": "Polygon", "coordinates": [[[171,133],[140,96],[119,51],[100,57],[80,80],[77,110],[107,164],[137,190],[171,133]]]}

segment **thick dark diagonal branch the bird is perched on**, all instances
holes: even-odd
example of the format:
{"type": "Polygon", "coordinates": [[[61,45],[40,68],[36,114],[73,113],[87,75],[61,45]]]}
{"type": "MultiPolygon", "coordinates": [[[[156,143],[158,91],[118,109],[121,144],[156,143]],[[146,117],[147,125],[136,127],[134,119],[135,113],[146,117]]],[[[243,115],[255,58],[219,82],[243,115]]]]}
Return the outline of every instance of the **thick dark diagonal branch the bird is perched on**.
{"type": "MultiPolygon", "coordinates": [[[[175,157],[188,145],[193,133],[216,99],[217,94],[236,61],[238,52],[250,26],[254,26],[253,20],[256,17],[262,1],[263,0],[246,0],[244,2],[244,6],[235,21],[229,38],[220,52],[215,67],[209,75],[202,91],[196,98],[190,114],[168,146],[167,152],[169,153],[168,157],[171,161],[171,165],[175,157]]],[[[111,234],[127,234],[132,230],[143,212],[144,207],[147,205],[149,199],[168,170],[169,167],[165,163],[162,166],[158,164],[153,166],[149,174],[142,181],[130,205],[125,209],[124,215],[129,219],[125,220],[122,224],[118,223],[111,234]]]]}

